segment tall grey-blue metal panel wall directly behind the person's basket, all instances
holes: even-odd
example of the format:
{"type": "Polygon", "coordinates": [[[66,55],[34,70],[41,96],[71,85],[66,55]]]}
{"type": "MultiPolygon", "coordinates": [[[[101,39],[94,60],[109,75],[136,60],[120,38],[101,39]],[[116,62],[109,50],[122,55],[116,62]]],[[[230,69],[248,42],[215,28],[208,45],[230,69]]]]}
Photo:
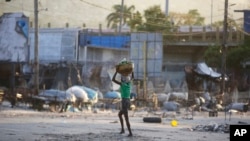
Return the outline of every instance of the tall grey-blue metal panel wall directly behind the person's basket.
{"type": "Polygon", "coordinates": [[[130,59],[135,65],[135,77],[159,77],[162,73],[162,35],[160,33],[131,33],[130,59]]]}

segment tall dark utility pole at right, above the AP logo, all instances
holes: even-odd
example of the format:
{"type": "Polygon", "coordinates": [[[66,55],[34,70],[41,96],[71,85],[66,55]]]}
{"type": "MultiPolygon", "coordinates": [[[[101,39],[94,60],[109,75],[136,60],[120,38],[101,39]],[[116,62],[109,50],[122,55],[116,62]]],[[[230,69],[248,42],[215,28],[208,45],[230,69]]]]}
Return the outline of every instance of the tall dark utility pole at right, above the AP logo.
{"type": "MultiPolygon", "coordinates": [[[[221,91],[225,97],[225,73],[226,73],[226,52],[227,52],[227,16],[228,16],[228,0],[225,0],[224,9],[224,22],[223,22],[223,41],[222,41],[222,87],[221,91]]],[[[226,108],[225,108],[225,120],[226,120],[226,108]]]]}

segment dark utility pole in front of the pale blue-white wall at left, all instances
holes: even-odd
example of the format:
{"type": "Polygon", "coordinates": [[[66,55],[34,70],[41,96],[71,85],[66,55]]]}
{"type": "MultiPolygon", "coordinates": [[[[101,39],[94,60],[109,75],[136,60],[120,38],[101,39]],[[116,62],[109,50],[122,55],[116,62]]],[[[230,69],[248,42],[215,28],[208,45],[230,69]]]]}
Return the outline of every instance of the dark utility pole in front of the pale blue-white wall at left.
{"type": "Polygon", "coordinates": [[[35,65],[35,72],[34,72],[34,86],[35,86],[35,94],[39,92],[39,37],[38,37],[38,0],[34,0],[34,65],[35,65]]]}

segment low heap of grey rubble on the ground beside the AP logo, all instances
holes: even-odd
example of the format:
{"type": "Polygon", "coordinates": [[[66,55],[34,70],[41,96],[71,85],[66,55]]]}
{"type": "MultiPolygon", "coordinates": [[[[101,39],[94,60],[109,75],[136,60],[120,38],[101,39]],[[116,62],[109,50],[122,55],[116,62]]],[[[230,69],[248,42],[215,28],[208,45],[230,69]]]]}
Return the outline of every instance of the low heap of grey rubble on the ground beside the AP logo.
{"type": "Polygon", "coordinates": [[[193,131],[199,131],[199,132],[218,132],[218,133],[229,133],[230,125],[229,124],[217,124],[217,123],[211,123],[208,125],[197,125],[193,127],[193,131]]]}

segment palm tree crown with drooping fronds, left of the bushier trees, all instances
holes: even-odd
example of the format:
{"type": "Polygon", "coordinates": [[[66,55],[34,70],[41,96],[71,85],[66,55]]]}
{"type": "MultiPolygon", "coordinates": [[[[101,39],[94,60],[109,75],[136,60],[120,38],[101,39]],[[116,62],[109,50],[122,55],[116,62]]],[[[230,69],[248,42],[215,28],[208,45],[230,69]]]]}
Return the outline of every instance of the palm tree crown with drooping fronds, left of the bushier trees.
{"type": "Polygon", "coordinates": [[[110,27],[112,29],[117,28],[118,24],[120,22],[121,14],[123,14],[122,18],[122,25],[128,24],[128,22],[132,18],[132,13],[135,9],[135,6],[130,6],[127,7],[126,5],[123,6],[123,13],[122,11],[122,6],[121,5],[114,5],[113,6],[114,12],[110,13],[106,20],[108,21],[107,27],[110,27]]]}

